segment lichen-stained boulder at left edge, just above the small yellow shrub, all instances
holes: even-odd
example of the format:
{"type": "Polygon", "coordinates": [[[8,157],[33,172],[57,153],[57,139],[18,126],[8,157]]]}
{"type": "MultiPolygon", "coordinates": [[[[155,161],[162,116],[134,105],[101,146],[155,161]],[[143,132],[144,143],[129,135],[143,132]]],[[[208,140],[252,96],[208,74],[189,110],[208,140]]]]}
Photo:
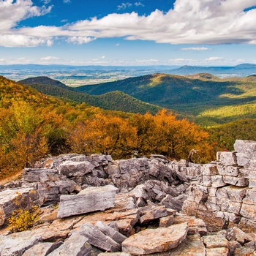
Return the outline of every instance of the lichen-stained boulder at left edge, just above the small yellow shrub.
{"type": "Polygon", "coordinates": [[[7,225],[7,219],[18,208],[31,210],[40,206],[41,201],[36,190],[30,188],[7,189],[0,192],[0,226],[7,225]]]}

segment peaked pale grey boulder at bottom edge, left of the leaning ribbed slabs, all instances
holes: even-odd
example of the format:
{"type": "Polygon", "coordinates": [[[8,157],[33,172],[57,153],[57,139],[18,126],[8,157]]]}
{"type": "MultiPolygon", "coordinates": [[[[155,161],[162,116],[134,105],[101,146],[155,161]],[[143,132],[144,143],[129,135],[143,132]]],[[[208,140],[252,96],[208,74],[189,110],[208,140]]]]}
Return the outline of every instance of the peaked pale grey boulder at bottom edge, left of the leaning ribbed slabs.
{"type": "Polygon", "coordinates": [[[72,235],[64,241],[64,244],[59,246],[49,254],[49,256],[91,256],[91,245],[89,238],[81,236],[79,233],[72,233],[72,235]]]}

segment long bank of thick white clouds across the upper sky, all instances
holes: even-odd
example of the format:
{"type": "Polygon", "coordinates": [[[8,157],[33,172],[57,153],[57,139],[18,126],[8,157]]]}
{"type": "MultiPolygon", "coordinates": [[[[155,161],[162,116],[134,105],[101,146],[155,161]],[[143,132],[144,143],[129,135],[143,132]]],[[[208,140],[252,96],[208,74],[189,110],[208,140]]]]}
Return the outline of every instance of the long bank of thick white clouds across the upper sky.
{"type": "Polygon", "coordinates": [[[36,7],[31,0],[0,0],[0,45],[50,46],[56,39],[84,44],[110,37],[169,44],[256,44],[256,9],[250,9],[255,5],[256,0],[176,0],[166,13],[112,13],[64,26],[19,29],[20,20],[45,15],[51,7],[36,7]]]}

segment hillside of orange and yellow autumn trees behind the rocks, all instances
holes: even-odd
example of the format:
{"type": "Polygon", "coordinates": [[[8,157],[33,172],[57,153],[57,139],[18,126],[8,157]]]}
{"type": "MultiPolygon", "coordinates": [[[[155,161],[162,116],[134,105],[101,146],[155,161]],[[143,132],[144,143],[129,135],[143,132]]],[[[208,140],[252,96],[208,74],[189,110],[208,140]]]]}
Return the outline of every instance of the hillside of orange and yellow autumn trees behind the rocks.
{"type": "Polygon", "coordinates": [[[214,158],[208,133],[167,110],[155,116],[102,110],[0,78],[0,178],[34,167],[49,154],[99,153],[120,159],[137,150],[186,159],[192,148],[202,161],[214,158]]]}

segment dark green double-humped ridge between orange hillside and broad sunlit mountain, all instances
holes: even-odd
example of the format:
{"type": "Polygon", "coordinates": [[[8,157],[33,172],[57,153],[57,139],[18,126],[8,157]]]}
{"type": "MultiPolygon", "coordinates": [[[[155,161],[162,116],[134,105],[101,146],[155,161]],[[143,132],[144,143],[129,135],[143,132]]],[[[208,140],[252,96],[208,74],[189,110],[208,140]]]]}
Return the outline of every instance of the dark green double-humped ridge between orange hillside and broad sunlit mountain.
{"type": "Polygon", "coordinates": [[[135,99],[134,97],[117,90],[97,96],[85,94],[64,85],[64,83],[61,83],[58,80],[53,80],[48,77],[27,78],[25,80],[20,80],[18,83],[31,86],[43,94],[70,99],[79,103],[86,102],[88,105],[103,108],[105,110],[118,110],[129,113],[150,112],[154,114],[162,109],[159,106],[142,102],[139,99],[135,99]]]}

